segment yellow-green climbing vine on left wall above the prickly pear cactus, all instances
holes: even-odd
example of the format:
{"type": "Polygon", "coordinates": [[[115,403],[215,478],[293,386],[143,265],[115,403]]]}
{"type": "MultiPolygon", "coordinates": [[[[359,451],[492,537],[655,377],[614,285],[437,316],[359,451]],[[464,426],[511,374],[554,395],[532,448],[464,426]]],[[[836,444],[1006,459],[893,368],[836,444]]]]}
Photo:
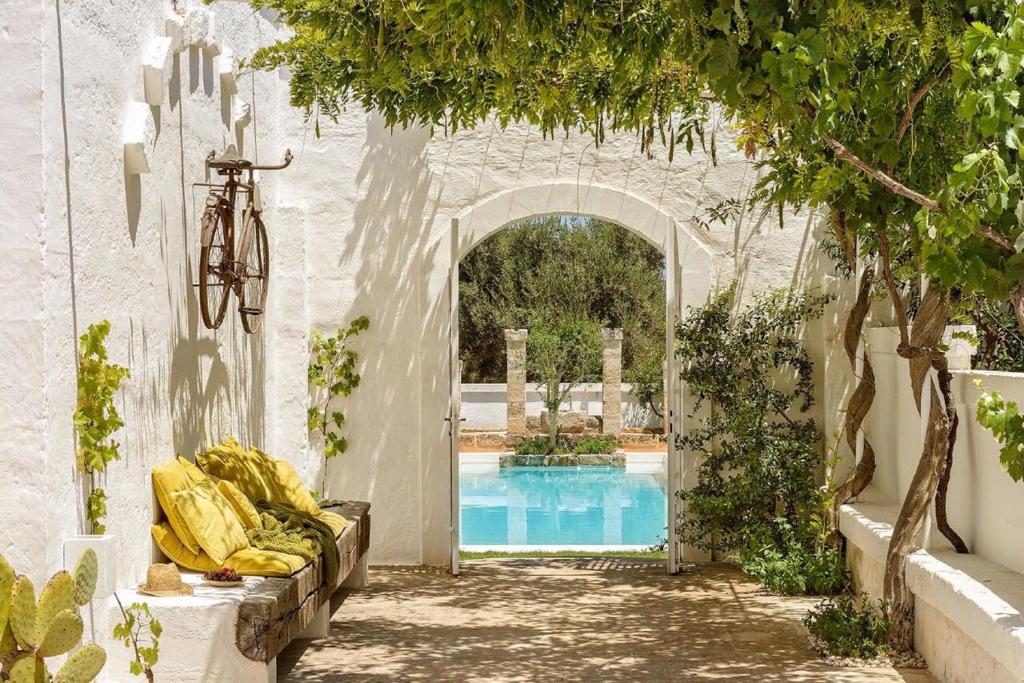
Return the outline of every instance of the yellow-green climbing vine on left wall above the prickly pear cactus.
{"type": "Polygon", "coordinates": [[[106,466],[121,459],[120,444],[113,435],[124,422],[114,398],[130,373],[108,360],[105,340],[111,332],[109,321],[94,323],[79,338],[78,408],[73,421],[78,435],[78,470],[88,477],[89,496],[86,518],[92,532],[102,533],[106,516],[106,493],[98,485],[106,466]]]}

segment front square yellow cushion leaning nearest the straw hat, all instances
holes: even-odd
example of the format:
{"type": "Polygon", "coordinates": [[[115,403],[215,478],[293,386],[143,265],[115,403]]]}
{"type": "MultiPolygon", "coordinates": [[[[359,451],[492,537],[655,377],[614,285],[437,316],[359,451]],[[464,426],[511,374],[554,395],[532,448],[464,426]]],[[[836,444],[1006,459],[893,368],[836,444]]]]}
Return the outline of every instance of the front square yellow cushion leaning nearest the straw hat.
{"type": "Polygon", "coordinates": [[[202,481],[187,490],[171,494],[171,500],[200,547],[214,562],[222,564],[249,547],[239,516],[212,481],[202,481]]]}

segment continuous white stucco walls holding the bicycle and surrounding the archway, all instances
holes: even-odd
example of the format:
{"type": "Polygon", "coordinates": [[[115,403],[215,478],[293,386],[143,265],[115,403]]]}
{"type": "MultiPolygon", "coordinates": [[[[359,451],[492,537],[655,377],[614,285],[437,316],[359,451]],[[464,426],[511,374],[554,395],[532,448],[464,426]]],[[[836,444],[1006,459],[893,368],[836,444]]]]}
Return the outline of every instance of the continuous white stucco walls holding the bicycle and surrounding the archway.
{"type": "MultiPolygon", "coordinates": [[[[296,161],[264,176],[272,279],[263,331],[247,337],[229,317],[209,332],[191,287],[203,195],[191,183],[205,179],[207,152],[237,137],[231,101],[201,49],[166,71],[152,172],[126,176],[122,163],[141,53],[171,10],[166,1],[25,2],[2,17],[10,88],[0,135],[11,163],[0,167],[0,483],[10,494],[0,497],[0,553],[34,580],[59,567],[62,540],[79,530],[71,413],[75,338],[89,323],[111,319],[112,359],[132,371],[119,404],[124,460],[106,479],[128,585],[154,554],[148,472],[175,453],[233,434],[296,463],[315,485],[308,332],[359,314],[372,321],[355,343],[364,382],[346,409],[351,449],[331,464],[328,492],[373,503],[375,562],[446,561],[453,218],[463,221],[460,254],[506,222],[555,210],[616,220],[655,243],[674,229],[688,303],[732,279],[746,293],[821,281],[819,227],[808,216],[785,216],[781,228],[774,215],[693,227],[702,207],[744,199],[756,179],[725,127],[717,167],[699,153],[647,160],[631,134],[597,147],[585,134],[545,140],[525,126],[391,131],[356,106],[322,120],[316,138],[288,104],[286,74],[247,74],[240,96],[255,123],[245,152],[265,162],[291,147],[296,161]]],[[[270,17],[245,4],[210,11],[217,42],[239,57],[275,36],[270,17]]],[[[824,325],[808,333],[818,360],[824,325]]]]}

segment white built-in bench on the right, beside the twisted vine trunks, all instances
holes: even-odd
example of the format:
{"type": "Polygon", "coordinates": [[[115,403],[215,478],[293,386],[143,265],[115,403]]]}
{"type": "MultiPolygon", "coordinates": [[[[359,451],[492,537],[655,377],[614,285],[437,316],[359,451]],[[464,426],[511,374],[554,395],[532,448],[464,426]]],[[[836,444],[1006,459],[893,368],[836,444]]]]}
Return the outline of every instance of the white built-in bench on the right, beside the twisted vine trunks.
{"type": "MultiPolygon", "coordinates": [[[[840,510],[840,531],[854,583],[883,594],[896,505],[858,503],[840,510]]],[[[977,555],[918,550],[907,558],[914,596],[914,648],[941,681],[1024,681],[1024,574],[977,555]]]]}

